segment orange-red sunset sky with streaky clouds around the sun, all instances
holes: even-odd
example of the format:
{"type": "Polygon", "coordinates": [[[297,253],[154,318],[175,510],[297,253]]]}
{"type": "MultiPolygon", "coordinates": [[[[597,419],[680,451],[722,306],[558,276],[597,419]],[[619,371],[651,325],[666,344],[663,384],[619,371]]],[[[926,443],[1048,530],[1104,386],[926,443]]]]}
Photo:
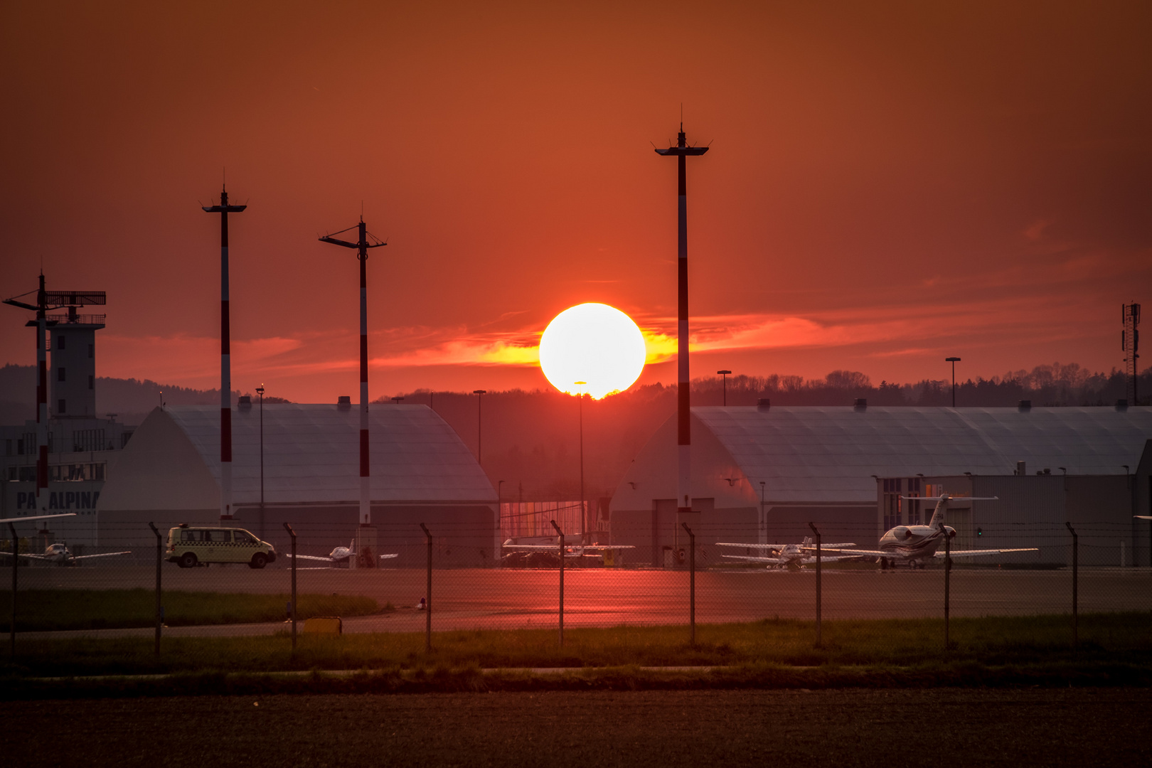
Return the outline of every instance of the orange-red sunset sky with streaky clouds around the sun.
{"type": "Polygon", "coordinates": [[[0,10],[0,295],[107,290],[100,375],[218,383],[225,167],[235,388],[355,396],[362,204],[372,397],[546,387],[581,302],[674,333],[681,104],[694,378],[1109,370],[1150,298],[1146,2],[109,5],[0,10]]]}

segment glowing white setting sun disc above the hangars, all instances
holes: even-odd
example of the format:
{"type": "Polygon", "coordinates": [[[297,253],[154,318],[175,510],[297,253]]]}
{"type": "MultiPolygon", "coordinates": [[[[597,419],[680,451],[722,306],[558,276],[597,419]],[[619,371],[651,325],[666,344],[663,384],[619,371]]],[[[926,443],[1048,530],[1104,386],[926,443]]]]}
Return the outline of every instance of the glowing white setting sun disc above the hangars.
{"type": "Polygon", "coordinates": [[[540,336],[540,368],[552,386],[599,400],[632,386],[644,370],[644,334],[607,304],[577,304],[540,336]]]}

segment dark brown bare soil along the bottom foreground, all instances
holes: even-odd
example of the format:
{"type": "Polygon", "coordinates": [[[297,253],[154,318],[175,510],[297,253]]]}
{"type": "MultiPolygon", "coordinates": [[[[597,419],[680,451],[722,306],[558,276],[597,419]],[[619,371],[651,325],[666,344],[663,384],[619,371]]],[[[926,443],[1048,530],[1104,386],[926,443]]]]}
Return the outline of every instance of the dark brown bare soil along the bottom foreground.
{"type": "Polygon", "coordinates": [[[0,702],[37,766],[1147,766],[1149,690],[273,695],[0,702]]]}

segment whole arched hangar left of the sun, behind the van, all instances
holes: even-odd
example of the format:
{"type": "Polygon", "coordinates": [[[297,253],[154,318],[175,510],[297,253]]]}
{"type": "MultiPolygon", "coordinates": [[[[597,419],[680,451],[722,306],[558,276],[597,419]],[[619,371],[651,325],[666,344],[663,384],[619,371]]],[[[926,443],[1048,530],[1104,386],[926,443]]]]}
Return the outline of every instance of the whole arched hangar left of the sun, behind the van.
{"type": "MultiPolygon", "coordinates": [[[[180,523],[248,529],[281,555],[327,555],[357,537],[376,539],[388,565],[426,561],[427,525],[440,565],[491,565],[500,557],[497,493],[455,431],[426,405],[372,404],[372,526],[357,523],[359,409],[338,404],[263,408],[264,508],[260,508],[260,408],[233,409],[233,519],[220,518],[220,409],[154,409],[136,428],[97,507],[103,546],[152,552],[150,522],[167,535],[180,523]]],[[[359,550],[359,548],[357,548],[359,550]]],[[[287,558],[278,561],[287,562],[287,558]]]]}

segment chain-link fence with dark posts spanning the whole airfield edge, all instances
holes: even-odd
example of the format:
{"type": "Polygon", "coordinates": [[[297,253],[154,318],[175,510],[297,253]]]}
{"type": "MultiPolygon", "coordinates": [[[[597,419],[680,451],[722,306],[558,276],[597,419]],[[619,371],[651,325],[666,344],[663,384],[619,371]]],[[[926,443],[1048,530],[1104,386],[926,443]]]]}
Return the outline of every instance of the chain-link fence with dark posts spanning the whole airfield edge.
{"type": "Polygon", "coordinates": [[[297,628],[334,616],[343,633],[552,630],[562,621],[681,625],[687,637],[694,621],[942,618],[946,604],[950,618],[1070,617],[1074,600],[1081,615],[1152,610],[1152,569],[1131,565],[1124,525],[1074,526],[1075,539],[1064,524],[987,525],[948,542],[950,569],[942,546],[922,560],[870,554],[880,552],[874,526],[821,534],[819,567],[819,524],[810,541],[696,524],[650,546],[561,527],[562,556],[555,531],[500,542],[479,524],[291,527],[295,558],[287,527],[258,537],[227,523],[104,526],[99,545],[85,547],[17,539],[17,565],[0,558],[0,626],[10,632],[15,618],[26,641],[150,637],[159,602],[166,638],[282,637],[294,583],[297,628]],[[1016,552],[971,554],[991,549],[1016,552]]]}

